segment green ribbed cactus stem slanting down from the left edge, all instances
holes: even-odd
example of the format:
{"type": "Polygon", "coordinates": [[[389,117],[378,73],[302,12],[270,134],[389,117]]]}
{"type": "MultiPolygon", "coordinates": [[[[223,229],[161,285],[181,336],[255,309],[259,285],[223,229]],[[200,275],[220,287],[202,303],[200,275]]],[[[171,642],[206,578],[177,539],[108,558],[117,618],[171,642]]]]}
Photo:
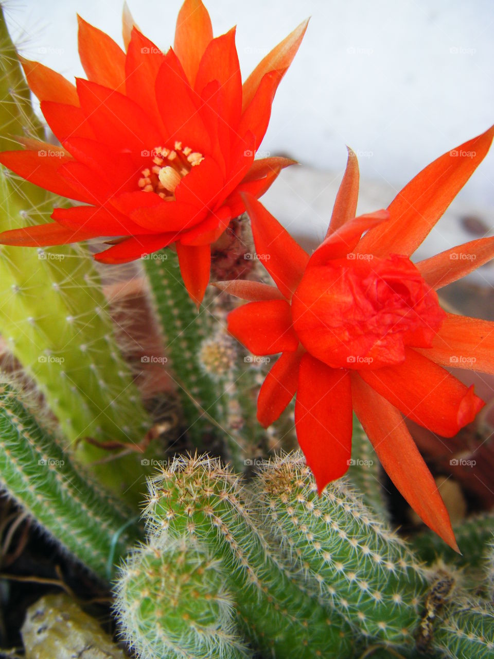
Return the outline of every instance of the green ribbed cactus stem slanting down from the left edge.
{"type": "Polygon", "coordinates": [[[140,531],[133,511],[94,487],[9,382],[0,381],[0,486],[101,579],[140,531]]]}

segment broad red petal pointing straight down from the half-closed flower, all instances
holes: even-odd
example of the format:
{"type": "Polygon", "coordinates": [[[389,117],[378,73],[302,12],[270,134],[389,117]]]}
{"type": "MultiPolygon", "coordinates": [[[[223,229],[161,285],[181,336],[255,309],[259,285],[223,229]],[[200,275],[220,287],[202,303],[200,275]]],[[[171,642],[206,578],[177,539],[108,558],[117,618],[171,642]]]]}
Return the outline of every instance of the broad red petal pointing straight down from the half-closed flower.
{"type": "Polygon", "coordinates": [[[295,401],[298,444],[316,478],[319,494],[348,470],[352,453],[350,374],[306,353],[300,362],[295,401]]]}

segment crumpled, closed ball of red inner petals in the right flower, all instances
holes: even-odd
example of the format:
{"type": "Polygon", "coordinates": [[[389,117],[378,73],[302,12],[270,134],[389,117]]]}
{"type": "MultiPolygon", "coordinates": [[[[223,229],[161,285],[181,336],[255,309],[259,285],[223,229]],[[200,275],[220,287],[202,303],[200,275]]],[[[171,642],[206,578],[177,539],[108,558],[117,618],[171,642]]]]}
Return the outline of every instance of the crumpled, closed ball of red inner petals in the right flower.
{"type": "Polygon", "coordinates": [[[333,368],[399,364],[406,346],[431,347],[445,317],[406,256],[309,267],[292,299],[300,342],[333,368]]]}

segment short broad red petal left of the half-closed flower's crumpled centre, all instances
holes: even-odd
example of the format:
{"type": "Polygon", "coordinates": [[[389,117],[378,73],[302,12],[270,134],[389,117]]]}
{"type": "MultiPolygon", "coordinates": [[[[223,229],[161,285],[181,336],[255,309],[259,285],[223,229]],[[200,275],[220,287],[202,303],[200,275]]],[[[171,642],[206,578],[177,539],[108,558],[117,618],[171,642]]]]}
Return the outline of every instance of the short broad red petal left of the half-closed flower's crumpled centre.
{"type": "Polygon", "coordinates": [[[253,355],[294,352],[298,338],[285,300],[242,304],[228,314],[228,331],[253,355]]]}

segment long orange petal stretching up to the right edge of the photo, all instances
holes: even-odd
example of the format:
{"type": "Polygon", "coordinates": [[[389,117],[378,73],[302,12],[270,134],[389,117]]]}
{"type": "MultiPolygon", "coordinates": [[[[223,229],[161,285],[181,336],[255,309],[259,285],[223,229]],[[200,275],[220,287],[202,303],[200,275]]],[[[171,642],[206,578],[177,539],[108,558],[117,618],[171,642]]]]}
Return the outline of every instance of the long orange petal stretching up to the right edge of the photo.
{"type": "Polygon", "coordinates": [[[359,252],[410,256],[487,154],[494,126],[425,167],[391,202],[391,219],[364,236],[359,252]]]}

